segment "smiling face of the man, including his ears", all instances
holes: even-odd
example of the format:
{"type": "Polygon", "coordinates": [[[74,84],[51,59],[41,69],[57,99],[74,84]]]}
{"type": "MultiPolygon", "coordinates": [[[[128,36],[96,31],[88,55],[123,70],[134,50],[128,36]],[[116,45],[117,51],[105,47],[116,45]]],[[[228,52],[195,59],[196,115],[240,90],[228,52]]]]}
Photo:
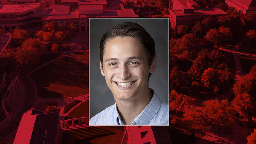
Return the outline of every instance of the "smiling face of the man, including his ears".
{"type": "Polygon", "coordinates": [[[144,47],[137,39],[116,37],[106,42],[101,74],[115,100],[133,100],[148,91],[148,75],[154,72],[155,64],[156,58],[149,68],[144,47]]]}

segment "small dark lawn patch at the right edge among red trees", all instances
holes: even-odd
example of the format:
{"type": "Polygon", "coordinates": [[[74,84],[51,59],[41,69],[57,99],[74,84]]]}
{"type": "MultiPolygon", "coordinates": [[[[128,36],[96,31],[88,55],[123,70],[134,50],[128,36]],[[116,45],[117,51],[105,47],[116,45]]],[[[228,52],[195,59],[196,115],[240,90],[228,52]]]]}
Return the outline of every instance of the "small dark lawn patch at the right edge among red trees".
{"type": "Polygon", "coordinates": [[[256,58],[246,57],[246,56],[239,56],[239,60],[242,66],[242,71],[245,74],[248,74],[251,67],[256,64],[256,58]]]}

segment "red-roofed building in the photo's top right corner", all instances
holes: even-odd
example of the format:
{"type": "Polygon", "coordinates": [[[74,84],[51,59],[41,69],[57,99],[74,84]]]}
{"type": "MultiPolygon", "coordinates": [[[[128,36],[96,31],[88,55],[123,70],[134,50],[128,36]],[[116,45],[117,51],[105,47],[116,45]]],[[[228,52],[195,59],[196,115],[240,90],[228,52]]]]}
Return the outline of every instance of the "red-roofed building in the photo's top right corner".
{"type": "Polygon", "coordinates": [[[235,7],[241,20],[244,20],[249,12],[256,14],[256,0],[225,0],[225,3],[229,7],[235,7]]]}

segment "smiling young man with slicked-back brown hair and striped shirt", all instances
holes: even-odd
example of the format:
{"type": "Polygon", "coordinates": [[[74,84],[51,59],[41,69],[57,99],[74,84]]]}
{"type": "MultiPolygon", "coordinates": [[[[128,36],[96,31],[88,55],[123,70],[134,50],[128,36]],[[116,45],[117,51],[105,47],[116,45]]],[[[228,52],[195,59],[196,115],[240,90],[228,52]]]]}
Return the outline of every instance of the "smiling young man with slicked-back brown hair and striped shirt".
{"type": "Polygon", "coordinates": [[[100,70],[116,103],[90,119],[90,125],[165,125],[168,105],[149,88],[156,69],[155,42],[137,23],[112,27],[100,41],[100,70]]]}

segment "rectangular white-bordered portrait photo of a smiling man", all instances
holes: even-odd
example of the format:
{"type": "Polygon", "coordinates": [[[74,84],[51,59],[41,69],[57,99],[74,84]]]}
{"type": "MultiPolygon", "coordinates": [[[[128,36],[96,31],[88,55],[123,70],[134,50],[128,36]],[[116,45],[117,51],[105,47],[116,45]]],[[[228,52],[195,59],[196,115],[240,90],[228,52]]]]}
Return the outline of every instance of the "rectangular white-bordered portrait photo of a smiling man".
{"type": "Polygon", "coordinates": [[[89,19],[89,124],[169,125],[169,19],[89,19]]]}

